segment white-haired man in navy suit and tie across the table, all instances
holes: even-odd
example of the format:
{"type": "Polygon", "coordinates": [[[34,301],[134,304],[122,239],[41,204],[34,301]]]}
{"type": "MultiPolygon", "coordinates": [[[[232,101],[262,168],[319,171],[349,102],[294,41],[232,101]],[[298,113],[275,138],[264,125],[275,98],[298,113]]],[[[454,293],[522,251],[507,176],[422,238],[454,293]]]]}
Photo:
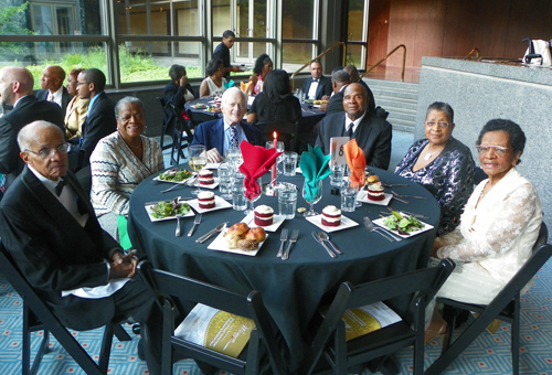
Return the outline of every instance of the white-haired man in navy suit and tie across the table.
{"type": "Polygon", "coordinates": [[[247,111],[247,99],[240,88],[231,87],[222,95],[223,118],[200,124],[193,133],[192,144],[203,144],[209,162],[217,163],[224,151],[237,147],[244,140],[255,146],[264,146],[263,133],[243,121],[247,111]]]}

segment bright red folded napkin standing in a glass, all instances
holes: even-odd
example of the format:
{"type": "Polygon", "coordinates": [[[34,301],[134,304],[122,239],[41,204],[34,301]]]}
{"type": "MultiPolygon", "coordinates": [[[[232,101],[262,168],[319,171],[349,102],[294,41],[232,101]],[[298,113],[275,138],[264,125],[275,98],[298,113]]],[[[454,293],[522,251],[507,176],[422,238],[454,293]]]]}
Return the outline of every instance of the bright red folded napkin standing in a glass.
{"type": "Polygon", "coordinates": [[[243,156],[240,171],[245,174],[245,197],[251,201],[261,194],[257,179],[270,170],[282,152],[276,152],[276,149],[253,146],[245,140],[240,144],[240,149],[243,156]]]}

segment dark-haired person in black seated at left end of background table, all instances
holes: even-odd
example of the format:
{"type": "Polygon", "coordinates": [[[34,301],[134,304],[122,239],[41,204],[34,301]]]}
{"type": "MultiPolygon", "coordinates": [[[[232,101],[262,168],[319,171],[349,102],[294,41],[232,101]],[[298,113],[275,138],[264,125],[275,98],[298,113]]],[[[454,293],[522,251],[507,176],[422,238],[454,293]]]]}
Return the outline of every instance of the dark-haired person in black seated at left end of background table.
{"type": "MultiPolygon", "coordinates": [[[[195,99],[195,94],[193,93],[192,86],[188,82],[188,76],[185,67],[182,65],[174,64],[169,69],[169,76],[171,81],[164,86],[163,99],[164,103],[172,103],[177,110],[181,114],[185,114],[184,103],[195,99]]],[[[170,128],[172,121],[172,110],[170,108],[164,108],[164,124],[166,133],[172,136],[173,129],[170,128]]]]}

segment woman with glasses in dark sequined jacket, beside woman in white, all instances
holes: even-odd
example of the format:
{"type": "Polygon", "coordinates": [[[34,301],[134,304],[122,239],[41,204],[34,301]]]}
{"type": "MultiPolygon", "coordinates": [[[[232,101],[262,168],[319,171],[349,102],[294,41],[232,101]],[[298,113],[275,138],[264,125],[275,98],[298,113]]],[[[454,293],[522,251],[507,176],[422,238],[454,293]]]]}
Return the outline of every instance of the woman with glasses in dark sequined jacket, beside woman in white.
{"type": "Polygon", "coordinates": [[[453,138],[454,110],[442,101],[432,103],[425,116],[425,138],[406,151],[395,173],[426,186],[440,205],[437,235],[453,232],[474,191],[475,163],[471,151],[453,138]]]}

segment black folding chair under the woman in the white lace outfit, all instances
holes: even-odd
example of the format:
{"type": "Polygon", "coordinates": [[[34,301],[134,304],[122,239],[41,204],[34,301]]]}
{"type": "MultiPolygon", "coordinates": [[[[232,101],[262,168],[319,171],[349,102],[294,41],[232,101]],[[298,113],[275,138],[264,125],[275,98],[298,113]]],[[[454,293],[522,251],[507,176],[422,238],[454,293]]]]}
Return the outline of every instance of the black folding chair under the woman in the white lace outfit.
{"type": "Polygon", "coordinates": [[[437,303],[444,304],[443,318],[448,324],[447,333],[440,356],[427,368],[426,374],[440,374],[495,319],[511,324],[512,374],[519,374],[520,291],[552,256],[552,246],[548,245],[546,242],[548,228],[542,223],[539,237],[533,245],[533,254],[489,304],[471,304],[437,298],[437,303]],[[463,311],[473,311],[479,315],[450,344],[456,318],[463,311]]]}

